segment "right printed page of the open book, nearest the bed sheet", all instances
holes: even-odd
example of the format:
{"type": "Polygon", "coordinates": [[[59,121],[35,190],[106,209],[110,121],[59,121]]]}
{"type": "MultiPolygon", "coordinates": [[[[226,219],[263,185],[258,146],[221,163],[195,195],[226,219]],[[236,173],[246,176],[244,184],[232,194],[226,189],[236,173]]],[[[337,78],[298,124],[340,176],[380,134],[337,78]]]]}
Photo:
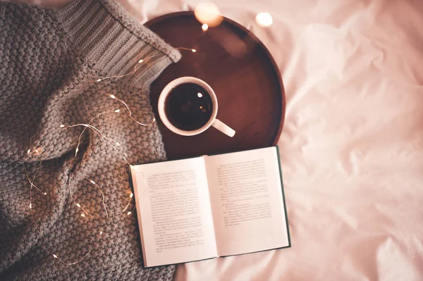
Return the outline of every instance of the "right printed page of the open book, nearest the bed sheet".
{"type": "Polygon", "coordinates": [[[289,246],[276,147],[205,161],[219,256],[289,246]]]}

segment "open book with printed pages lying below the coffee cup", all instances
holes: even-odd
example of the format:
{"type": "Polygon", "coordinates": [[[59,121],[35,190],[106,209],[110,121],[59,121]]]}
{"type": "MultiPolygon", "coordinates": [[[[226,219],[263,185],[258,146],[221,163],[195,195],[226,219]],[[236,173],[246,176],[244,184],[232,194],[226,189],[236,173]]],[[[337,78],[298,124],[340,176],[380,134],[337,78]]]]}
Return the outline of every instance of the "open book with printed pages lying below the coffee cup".
{"type": "Polygon", "coordinates": [[[290,246],[277,146],[131,173],[145,267],[290,246]]]}

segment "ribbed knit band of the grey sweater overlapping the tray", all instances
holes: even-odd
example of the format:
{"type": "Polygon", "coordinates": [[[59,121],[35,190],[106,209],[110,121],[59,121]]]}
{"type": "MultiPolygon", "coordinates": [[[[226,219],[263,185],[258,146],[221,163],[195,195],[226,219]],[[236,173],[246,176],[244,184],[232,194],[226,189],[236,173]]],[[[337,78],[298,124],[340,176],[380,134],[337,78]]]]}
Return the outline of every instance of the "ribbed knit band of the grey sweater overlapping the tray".
{"type": "Polygon", "coordinates": [[[94,63],[102,75],[129,73],[140,59],[148,58],[145,61],[150,67],[140,68],[137,77],[155,77],[180,59],[178,50],[135,22],[113,1],[72,1],[58,8],[56,16],[75,54],[94,63]],[[152,69],[154,65],[157,67],[152,69]]]}

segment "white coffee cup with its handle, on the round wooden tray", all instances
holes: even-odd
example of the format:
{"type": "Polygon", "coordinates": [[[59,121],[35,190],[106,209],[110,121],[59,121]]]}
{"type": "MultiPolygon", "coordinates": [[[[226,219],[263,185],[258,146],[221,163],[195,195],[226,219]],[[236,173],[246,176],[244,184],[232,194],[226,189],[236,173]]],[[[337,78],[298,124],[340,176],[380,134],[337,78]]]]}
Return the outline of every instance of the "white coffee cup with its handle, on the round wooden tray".
{"type": "Polygon", "coordinates": [[[214,94],[214,91],[212,89],[212,87],[210,87],[206,82],[204,82],[201,79],[198,79],[196,77],[189,77],[189,76],[185,76],[185,77],[179,77],[171,82],[168,83],[168,85],[166,85],[166,87],[164,87],[164,89],[161,91],[161,94],[159,96],[159,116],[161,119],[161,122],[163,122],[163,124],[172,132],[178,134],[178,135],[183,135],[183,136],[193,136],[193,135],[198,135],[202,132],[204,132],[205,130],[207,130],[210,126],[215,127],[217,130],[223,132],[223,134],[228,135],[229,137],[233,137],[235,135],[235,131],[229,127],[228,125],[226,125],[225,123],[222,123],[221,120],[216,119],[216,115],[217,115],[217,98],[216,98],[216,94],[214,94]],[[209,96],[212,99],[212,104],[213,104],[213,110],[212,110],[212,116],[210,117],[210,119],[207,121],[207,123],[205,125],[203,125],[202,127],[200,127],[197,130],[192,130],[192,131],[187,131],[187,130],[182,130],[178,127],[175,127],[167,118],[166,112],[165,112],[165,101],[166,101],[166,97],[168,96],[168,94],[171,92],[171,90],[180,85],[180,84],[184,84],[184,83],[195,83],[197,85],[200,85],[200,87],[204,88],[207,93],[209,94],[209,96]]]}

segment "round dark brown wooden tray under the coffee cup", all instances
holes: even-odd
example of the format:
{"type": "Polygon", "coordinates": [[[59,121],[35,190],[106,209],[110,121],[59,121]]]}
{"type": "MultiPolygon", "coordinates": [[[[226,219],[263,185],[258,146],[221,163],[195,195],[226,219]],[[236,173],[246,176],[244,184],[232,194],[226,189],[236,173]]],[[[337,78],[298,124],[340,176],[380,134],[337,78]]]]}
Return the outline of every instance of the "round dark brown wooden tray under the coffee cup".
{"type": "Polygon", "coordinates": [[[181,51],[152,83],[151,101],[169,159],[219,154],[271,146],[278,142],[285,115],[285,93],[278,67],[266,49],[242,25],[224,18],[217,27],[202,31],[192,11],[170,13],[145,23],[181,51]],[[210,127],[200,135],[176,135],[161,123],[157,101],[171,80],[194,76],[207,82],[219,102],[217,118],[236,131],[231,138],[210,127]]]}

